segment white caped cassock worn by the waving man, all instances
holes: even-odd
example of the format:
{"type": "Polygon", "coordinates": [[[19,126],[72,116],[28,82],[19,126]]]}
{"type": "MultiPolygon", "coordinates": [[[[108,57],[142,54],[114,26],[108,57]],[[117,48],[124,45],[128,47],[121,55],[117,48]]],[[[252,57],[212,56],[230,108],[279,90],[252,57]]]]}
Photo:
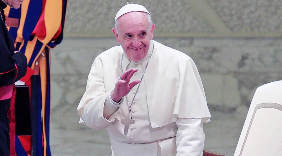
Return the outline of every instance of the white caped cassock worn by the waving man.
{"type": "Polygon", "coordinates": [[[200,75],[194,61],[157,41],[151,40],[147,56],[139,62],[123,57],[123,71],[137,68],[131,81],[141,78],[151,51],[144,78],[128,94],[132,119],[128,135],[121,119],[128,114],[127,100],[114,102],[110,93],[121,72],[123,49],[115,46],[102,52],[92,64],[86,91],[77,107],[80,123],[92,129],[106,128],[112,156],[202,156],[204,122],[210,112],[200,75]],[[113,112],[113,114],[107,114],[113,112]],[[108,119],[104,115],[110,116],[108,119]]]}

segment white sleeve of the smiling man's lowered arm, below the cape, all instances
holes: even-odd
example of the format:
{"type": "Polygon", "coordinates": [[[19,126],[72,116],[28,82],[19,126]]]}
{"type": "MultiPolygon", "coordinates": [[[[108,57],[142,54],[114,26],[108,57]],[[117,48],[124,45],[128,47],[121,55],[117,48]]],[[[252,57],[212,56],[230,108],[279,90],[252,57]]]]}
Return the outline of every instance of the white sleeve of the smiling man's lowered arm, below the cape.
{"type": "Polygon", "coordinates": [[[202,156],[205,134],[201,118],[178,118],[176,156],[202,156]]]}

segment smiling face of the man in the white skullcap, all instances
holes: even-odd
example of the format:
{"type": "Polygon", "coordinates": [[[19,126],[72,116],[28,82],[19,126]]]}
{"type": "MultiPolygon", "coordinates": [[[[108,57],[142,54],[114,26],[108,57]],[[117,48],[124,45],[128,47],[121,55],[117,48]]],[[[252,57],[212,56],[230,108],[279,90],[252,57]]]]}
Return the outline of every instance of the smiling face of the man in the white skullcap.
{"type": "Polygon", "coordinates": [[[112,28],[112,32],[118,43],[129,60],[141,61],[148,53],[155,25],[149,23],[144,12],[128,12],[119,17],[117,22],[118,27],[112,28]]]}

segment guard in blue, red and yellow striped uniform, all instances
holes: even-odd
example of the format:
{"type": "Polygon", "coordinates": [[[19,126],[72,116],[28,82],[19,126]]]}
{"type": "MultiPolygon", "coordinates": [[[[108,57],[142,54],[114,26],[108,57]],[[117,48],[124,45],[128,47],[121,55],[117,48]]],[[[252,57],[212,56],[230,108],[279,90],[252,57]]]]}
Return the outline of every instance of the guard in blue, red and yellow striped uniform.
{"type": "Polygon", "coordinates": [[[51,156],[50,48],[63,39],[66,6],[67,0],[25,0],[4,10],[15,50],[28,66],[9,112],[11,156],[51,156]]]}

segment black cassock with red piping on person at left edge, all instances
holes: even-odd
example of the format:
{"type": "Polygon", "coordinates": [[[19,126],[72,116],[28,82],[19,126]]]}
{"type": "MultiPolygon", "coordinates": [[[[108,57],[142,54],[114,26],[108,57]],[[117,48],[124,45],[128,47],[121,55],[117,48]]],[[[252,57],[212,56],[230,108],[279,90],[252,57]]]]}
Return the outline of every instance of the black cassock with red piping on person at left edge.
{"type": "MultiPolygon", "coordinates": [[[[0,0],[0,12],[4,17],[3,9],[7,5],[0,0]]],[[[26,73],[27,60],[23,53],[15,52],[13,39],[6,28],[5,22],[0,17],[0,99],[1,90],[5,86],[13,85],[26,73]]],[[[5,91],[6,92],[6,91],[5,91]]],[[[8,110],[10,99],[0,100],[0,155],[9,156],[9,125],[8,110]]]]}

